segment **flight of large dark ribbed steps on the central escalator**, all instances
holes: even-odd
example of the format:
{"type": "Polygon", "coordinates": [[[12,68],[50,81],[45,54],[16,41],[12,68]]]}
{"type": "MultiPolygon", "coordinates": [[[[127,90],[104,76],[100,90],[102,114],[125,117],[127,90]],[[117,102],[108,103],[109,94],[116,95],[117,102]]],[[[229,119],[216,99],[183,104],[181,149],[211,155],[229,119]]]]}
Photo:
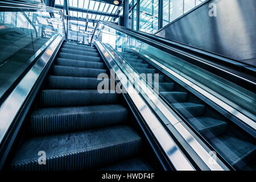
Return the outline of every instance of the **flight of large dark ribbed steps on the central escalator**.
{"type": "Polygon", "coordinates": [[[153,169],[140,156],[143,139],[130,126],[120,96],[97,90],[97,76],[106,72],[95,47],[63,44],[29,117],[30,137],[11,169],[153,169]],[[38,164],[38,151],[46,152],[47,165],[38,164]]]}

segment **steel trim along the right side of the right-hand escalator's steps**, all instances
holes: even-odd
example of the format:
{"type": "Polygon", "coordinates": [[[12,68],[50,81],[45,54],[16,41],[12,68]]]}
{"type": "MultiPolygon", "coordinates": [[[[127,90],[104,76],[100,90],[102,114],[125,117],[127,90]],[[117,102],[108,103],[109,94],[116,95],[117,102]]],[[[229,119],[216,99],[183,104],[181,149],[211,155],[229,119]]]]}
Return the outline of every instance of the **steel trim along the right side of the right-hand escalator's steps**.
{"type": "MultiPolygon", "coordinates": [[[[136,48],[133,48],[133,49],[134,49],[134,51],[139,52],[138,49],[136,49],[136,48]]],[[[175,77],[180,82],[184,83],[183,86],[185,86],[185,88],[192,88],[193,90],[196,91],[196,94],[198,94],[198,93],[201,94],[202,96],[204,96],[205,98],[210,100],[213,104],[217,105],[218,108],[216,108],[216,107],[215,108],[217,110],[219,110],[221,113],[224,113],[224,115],[228,114],[228,115],[230,115],[231,118],[234,118],[234,119],[237,118],[236,121],[234,121],[234,122],[237,123],[237,125],[241,126],[244,130],[248,131],[251,135],[253,135],[254,138],[256,137],[256,122],[253,119],[242,114],[239,110],[234,109],[232,106],[226,104],[224,101],[220,100],[213,94],[210,94],[206,90],[202,89],[200,86],[193,84],[193,82],[187,80],[187,78],[184,78],[183,76],[179,75],[178,73],[172,71],[170,68],[159,63],[159,61],[152,59],[152,57],[146,55],[146,53],[143,53],[140,51],[139,54],[146,57],[147,60],[151,61],[150,64],[157,65],[160,68],[160,71],[162,71],[166,75],[170,74],[171,76],[175,77]],[[246,125],[243,123],[245,123],[246,125]]],[[[191,90],[191,89],[189,89],[189,90],[191,90]]],[[[207,100],[205,100],[205,101],[207,102],[207,100]]],[[[208,103],[208,104],[210,104],[210,103],[208,103]]]]}

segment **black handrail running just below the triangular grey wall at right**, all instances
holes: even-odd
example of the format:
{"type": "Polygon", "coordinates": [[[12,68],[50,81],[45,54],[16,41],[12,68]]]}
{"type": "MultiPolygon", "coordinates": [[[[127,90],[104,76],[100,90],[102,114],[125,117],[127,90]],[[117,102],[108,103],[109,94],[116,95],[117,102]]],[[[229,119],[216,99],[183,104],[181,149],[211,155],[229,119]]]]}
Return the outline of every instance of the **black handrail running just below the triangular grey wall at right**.
{"type": "Polygon", "coordinates": [[[134,31],[129,28],[118,26],[114,23],[99,20],[93,31],[91,46],[94,34],[99,24],[104,24],[105,26],[109,26],[135,39],[141,40],[141,42],[143,43],[149,44],[152,47],[158,48],[164,52],[179,57],[180,59],[187,61],[188,63],[203,68],[206,71],[213,73],[214,75],[225,78],[226,80],[240,85],[247,90],[251,90],[254,92],[254,90],[256,89],[256,69],[254,67],[250,67],[249,65],[239,63],[236,60],[231,60],[226,57],[214,55],[213,53],[209,53],[200,49],[172,42],[170,40],[166,40],[155,35],[147,34],[141,31],[134,31]]]}

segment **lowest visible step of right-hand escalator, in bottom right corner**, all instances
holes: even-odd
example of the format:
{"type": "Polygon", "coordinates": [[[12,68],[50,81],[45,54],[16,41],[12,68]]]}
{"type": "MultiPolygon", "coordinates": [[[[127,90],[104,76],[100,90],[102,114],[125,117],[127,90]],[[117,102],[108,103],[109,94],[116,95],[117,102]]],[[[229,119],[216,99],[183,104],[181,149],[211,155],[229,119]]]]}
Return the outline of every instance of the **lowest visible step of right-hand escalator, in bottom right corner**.
{"type": "Polygon", "coordinates": [[[239,169],[255,159],[256,147],[252,143],[229,135],[221,135],[211,139],[210,142],[232,166],[239,169]]]}

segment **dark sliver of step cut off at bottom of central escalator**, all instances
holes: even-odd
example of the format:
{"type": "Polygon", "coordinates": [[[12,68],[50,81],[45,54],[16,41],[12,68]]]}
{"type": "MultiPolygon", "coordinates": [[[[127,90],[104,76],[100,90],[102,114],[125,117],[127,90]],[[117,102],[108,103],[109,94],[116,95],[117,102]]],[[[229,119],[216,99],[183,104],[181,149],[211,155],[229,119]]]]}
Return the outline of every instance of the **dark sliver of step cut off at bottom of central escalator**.
{"type": "Polygon", "coordinates": [[[134,158],[99,169],[100,171],[152,171],[154,170],[146,160],[134,158]]]}

